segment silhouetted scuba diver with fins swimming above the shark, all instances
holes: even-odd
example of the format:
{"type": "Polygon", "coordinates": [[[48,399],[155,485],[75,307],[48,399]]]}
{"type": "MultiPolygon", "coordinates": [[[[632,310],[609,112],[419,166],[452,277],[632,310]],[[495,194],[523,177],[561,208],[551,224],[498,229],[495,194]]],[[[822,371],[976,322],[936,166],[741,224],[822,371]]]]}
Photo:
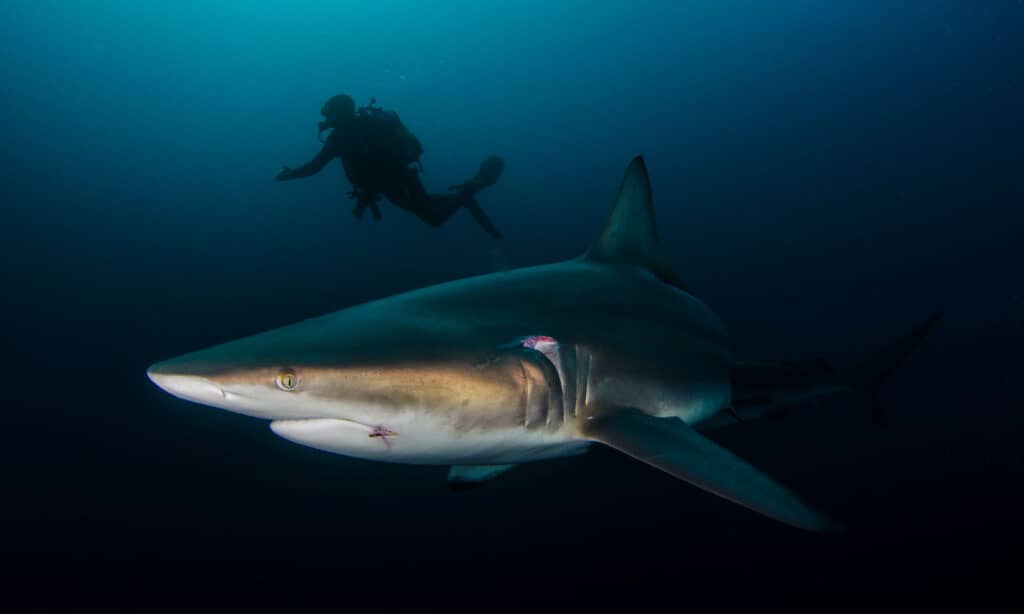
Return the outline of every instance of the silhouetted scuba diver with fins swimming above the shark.
{"type": "Polygon", "coordinates": [[[473,219],[495,238],[501,233],[476,202],[476,192],[494,185],[505,169],[505,162],[492,156],[480,164],[476,175],[449,188],[452,193],[427,193],[420,172],[423,146],[392,111],[370,104],[359,108],[351,96],[332,96],[321,108],[324,121],[319,133],[331,130],[324,147],[306,164],[290,169],[283,167],[275,181],[302,179],[318,173],[335,158],[341,159],[345,176],[352,184],[349,198],[355,200],[352,214],[361,219],[367,209],[374,219],[381,218],[377,206],[381,195],[400,209],[415,213],[421,220],[437,227],[456,211],[465,208],[473,219]]]}

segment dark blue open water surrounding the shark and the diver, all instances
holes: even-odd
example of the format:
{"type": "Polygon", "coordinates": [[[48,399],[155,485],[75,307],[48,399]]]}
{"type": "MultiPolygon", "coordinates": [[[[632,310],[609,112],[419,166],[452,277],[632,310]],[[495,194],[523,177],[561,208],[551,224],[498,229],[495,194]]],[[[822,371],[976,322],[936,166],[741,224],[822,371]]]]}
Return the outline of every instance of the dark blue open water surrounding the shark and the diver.
{"type": "Polygon", "coordinates": [[[179,4],[0,8],[5,559],[51,587],[28,595],[1010,589],[1020,2],[179,4]],[[511,266],[582,253],[643,154],[665,249],[741,356],[849,363],[943,308],[887,427],[838,399],[716,437],[849,530],[799,532],[605,449],[450,493],[441,468],[302,448],[151,385],[156,360],[492,269],[465,213],[356,221],[337,164],[271,181],[342,92],[398,111],[432,189],[506,159],[480,201],[511,266]]]}

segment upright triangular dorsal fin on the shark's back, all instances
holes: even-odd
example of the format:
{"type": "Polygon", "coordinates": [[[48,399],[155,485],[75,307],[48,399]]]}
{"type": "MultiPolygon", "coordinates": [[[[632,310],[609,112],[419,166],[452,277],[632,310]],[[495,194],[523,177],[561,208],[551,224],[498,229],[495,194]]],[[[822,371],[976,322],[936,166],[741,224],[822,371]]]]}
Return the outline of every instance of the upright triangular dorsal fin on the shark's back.
{"type": "Polygon", "coordinates": [[[666,283],[686,290],[669,266],[657,242],[650,178],[643,157],[634,158],[626,169],[604,229],[584,258],[605,264],[643,267],[666,283]]]}

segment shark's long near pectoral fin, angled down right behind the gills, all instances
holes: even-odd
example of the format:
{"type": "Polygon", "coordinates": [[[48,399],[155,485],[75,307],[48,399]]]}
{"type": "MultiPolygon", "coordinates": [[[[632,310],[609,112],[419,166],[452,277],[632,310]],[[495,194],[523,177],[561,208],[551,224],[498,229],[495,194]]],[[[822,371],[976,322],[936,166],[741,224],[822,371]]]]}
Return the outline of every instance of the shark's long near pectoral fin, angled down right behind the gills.
{"type": "Polygon", "coordinates": [[[784,486],[677,418],[653,418],[636,409],[623,409],[590,421],[586,434],[595,441],[785,524],[815,531],[838,528],[784,486]]]}

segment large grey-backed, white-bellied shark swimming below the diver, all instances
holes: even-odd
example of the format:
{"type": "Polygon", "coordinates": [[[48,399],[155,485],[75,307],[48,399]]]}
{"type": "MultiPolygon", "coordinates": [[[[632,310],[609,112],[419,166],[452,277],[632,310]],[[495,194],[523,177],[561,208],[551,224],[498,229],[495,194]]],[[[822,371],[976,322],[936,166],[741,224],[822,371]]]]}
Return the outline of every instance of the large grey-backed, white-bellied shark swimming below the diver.
{"type": "Polygon", "coordinates": [[[196,403],[374,461],[450,466],[453,488],[604,445],[787,525],[840,525],[710,431],[842,393],[871,399],[938,315],[859,364],[737,360],[676,275],[642,157],[580,257],[371,301],[158,362],[196,403]]]}

